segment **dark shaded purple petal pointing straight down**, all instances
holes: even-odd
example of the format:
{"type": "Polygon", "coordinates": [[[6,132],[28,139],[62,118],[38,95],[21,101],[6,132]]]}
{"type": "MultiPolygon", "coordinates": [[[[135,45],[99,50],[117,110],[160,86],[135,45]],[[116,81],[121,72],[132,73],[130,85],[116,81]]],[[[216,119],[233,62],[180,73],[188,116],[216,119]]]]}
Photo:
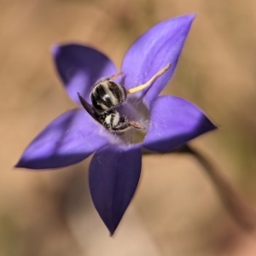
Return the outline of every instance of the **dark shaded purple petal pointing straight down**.
{"type": "Polygon", "coordinates": [[[137,188],[142,167],[141,148],[101,148],[90,162],[90,195],[111,235],[137,188]]]}

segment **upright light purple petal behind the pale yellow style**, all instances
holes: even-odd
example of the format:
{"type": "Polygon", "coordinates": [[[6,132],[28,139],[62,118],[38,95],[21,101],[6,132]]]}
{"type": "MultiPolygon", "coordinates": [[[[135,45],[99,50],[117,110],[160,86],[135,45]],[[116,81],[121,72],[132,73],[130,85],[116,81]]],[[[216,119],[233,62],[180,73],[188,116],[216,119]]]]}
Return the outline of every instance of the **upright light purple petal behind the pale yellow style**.
{"type": "Polygon", "coordinates": [[[171,64],[166,73],[156,79],[148,89],[137,92],[137,96],[146,93],[144,101],[148,105],[172,78],[194,19],[195,15],[185,15],[163,21],[138,38],[127,51],[122,64],[127,89],[146,83],[160,69],[166,67],[168,63],[171,64]]]}

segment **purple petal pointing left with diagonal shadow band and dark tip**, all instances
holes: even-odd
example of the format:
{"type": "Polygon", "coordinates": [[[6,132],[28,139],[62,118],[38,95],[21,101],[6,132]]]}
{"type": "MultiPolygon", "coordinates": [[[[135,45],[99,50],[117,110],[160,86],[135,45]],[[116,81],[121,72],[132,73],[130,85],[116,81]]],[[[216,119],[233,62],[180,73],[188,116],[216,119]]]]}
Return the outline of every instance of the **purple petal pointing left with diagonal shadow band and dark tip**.
{"type": "Polygon", "coordinates": [[[84,109],[63,113],[32,141],[16,167],[47,169],[78,163],[108,143],[101,132],[105,131],[84,109]]]}

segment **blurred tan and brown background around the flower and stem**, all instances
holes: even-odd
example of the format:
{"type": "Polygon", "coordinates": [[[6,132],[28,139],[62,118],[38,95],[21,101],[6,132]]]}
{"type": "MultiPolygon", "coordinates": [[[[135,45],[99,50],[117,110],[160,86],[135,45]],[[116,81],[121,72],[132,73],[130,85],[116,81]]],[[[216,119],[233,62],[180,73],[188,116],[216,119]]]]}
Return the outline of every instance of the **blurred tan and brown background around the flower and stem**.
{"type": "Polygon", "coordinates": [[[191,145],[255,206],[255,9],[253,0],[0,0],[0,255],[256,255],[255,236],[230,217],[189,155],[143,157],[113,238],[90,200],[90,159],[52,172],[13,167],[49,121],[76,108],[55,73],[53,44],[93,45],[120,67],[150,26],[196,13],[163,93],[194,102],[219,125],[191,145]]]}

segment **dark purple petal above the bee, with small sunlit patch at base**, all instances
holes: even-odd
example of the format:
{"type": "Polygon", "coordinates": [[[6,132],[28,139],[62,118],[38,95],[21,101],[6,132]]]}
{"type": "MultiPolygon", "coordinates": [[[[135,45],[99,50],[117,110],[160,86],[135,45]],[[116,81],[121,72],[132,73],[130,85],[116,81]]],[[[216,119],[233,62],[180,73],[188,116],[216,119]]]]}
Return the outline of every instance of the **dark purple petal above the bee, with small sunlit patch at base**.
{"type": "Polygon", "coordinates": [[[106,55],[88,46],[55,46],[53,56],[67,93],[76,103],[79,103],[78,92],[89,102],[92,85],[99,79],[117,73],[113,62],[106,55]]]}

